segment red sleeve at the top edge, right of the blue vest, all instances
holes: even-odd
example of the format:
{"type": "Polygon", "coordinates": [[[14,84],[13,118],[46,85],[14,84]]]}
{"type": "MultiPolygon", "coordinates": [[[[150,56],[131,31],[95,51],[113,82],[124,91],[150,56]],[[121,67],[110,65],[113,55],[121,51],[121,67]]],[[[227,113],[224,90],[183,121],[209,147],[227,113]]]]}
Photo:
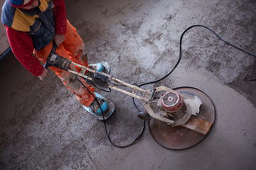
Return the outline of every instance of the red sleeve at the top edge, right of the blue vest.
{"type": "Polygon", "coordinates": [[[67,16],[64,0],[52,0],[54,4],[55,33],[65,34],[67,32],[67,16]]]}

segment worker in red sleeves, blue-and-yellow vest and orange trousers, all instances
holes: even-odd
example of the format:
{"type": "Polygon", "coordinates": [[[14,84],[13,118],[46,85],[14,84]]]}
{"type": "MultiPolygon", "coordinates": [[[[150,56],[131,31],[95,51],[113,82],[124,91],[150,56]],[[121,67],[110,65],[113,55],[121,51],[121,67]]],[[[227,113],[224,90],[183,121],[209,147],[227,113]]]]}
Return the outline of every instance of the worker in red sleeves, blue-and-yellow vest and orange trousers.
{"type": "MultiPolygon", "coordinates": [[[[57,55],[90,67],[87,63],[85,45],[66,18],[64,0],[6,0],[2,7],[1,22],[4,23],[15,57],[35,77],[46,79],[48,70],[41,62],[46,62],[54,43],[57,45],[55,50],[57,55]]],[[[96,96],[100,99],[98,102],[103,112],[108,111],[108,103],[100,94],[94,93],[92,86],[84,79],[56,67],[49,68],[76,95],[85,108],[90,108],[93,113],[101,113],[93,97],[96,96]],[[92,94],[78,80],[85,84],[92,94]]],[[[80,68],[73,64],[70,69],[80,72],[80,68]]]]}

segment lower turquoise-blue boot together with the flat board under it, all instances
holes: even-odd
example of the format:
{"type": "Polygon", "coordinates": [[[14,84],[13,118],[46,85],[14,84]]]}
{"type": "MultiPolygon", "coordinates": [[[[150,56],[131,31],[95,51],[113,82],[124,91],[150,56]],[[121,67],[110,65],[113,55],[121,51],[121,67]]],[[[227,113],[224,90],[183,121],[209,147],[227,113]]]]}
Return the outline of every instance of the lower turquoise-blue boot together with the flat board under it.
{"type": "Polygon", "coordinates": [[[85,108],[87,112],[91,113],[100,120],[103,120],[102,112],[105,119],[109,118],[110,115],[112,115],[112,113],[114,112],[114,104],[100,94],[95,93],[95,96],[97,98],[97,101],[95,99],[94,101],[92,101],[89,107],[83,106],[83,108],[85,108]],[[100,106],[98,103],[100,103],[100,106]]]}

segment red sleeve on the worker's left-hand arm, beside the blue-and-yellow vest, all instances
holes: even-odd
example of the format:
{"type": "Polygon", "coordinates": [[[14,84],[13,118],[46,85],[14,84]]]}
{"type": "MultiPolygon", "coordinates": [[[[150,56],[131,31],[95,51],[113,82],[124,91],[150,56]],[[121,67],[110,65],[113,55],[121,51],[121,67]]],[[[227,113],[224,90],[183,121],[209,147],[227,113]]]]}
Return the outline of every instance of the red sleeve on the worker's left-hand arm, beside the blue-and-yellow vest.
{"type": "Polygon", "coordinates": [[[43,65],[37,57],[33,56],[34,47],[31,36],[26,32],[14,30],[8,26],[5,27],[15,57],[34,76],[40,76],[43,73],[43,65]]]}

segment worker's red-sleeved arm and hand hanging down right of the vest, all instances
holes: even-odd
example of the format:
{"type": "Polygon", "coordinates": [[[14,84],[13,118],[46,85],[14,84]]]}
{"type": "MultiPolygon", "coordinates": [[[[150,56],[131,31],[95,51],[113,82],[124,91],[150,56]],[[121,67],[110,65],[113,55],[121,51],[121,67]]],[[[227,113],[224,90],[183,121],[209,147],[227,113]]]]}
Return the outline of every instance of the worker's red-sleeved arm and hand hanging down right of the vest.
{"type": "Polygon", "coordinates": [[[67,17],[65,13],[65,1],[53,0],[54,4],[54,21],[55,21],[55,35],[53,40],[59,47],[61,42],[65,40],[64,34],[67,32],[67,17]]]}

